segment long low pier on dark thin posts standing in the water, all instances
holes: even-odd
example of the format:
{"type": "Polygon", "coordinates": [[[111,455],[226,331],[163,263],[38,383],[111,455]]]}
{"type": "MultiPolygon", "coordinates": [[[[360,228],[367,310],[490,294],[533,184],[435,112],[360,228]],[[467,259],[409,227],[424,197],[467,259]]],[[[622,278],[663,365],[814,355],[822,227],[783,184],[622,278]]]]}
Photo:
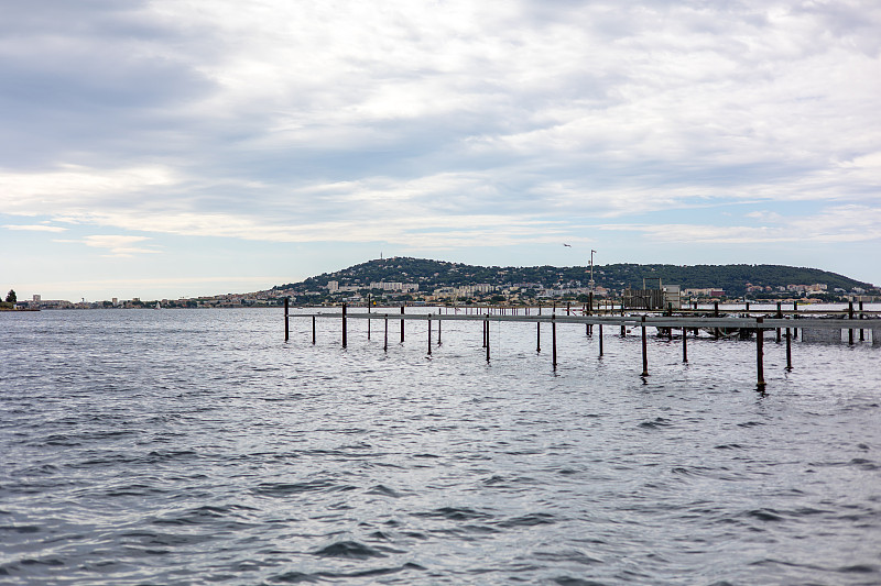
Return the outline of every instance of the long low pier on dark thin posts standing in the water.
{"type": "MultiPolygon", "coordinates": [[[[796,339],[798,332],[802,331],[803,336],[805,331],[827,332],[825,338],[827,341],[834,341],[837,332],[839,343],[841,341],[841,332],[848,332],[847,343],[855,344],[856,332],[859,332],[859,341],[867,341],[866,331],[872,331],[872,345],[881,345],[881,311],[864,311],[860,305],[859,309],[855,309],[851,303],[848,309],[840,311],[830,310],[811,310],[793,307],[793,309],[783,309],[780,303],[775,310],[771,309],[750,309],[747,303],[742,309],[739,308],[724,308],[720,309],[718,303],[713,309],[672,309],[666,310],[626,310],[623,308],[614,307],[588,307],[584,305],[578,308],[570,306],[553,306],[553,307],[529,307],[529,308],[514,308],[514,307],[471,307],[471,308],[449,308],[449,307],[431,307],[425,308],[435,311],[423,311],[420,313],[407,313],[403,306],[399,311],[393,311],[391,308],[379,308],[377,311],[368,308],[367,311],[350,312],[346,305],[338,311],[309,311],[303,313],[290,313],[289,302],[285,299],[284,305],[284,339],[285,342],[290,339],[290,319],[311,319],[312,320],[312,343],[315,344],[316,336],[316,320],[340,320],[340,338],[344,347],[348,344],[347,320],[381,320],[384,324],[384,344],[383,351],[388,352],[389,349],[389,321],[400,320],[400,335],[401,343],[404,343],[404,323],[406,321],[421,321],[426,323],[426,339],[427,339],[427,354],[432,354],[432,331],[434,329],[433,322],[437,322],[437,344],[440,344],[440,324],[444,321],[474,321],[481,322],[483,329],[482,346],[486,349],[486,360],[489,363],[491,360],[490,354],[490,322],[496,323],[535,323],[536,324],[536,353],[542,352],[542,324],[550,324],[551,330],[551,364],[556,369],[557,367],[557,325],[583,325],[587,335],[592,336],[594,327],[598,328],[599,334],[599,356],[602,356],[602,332],[603,327],[617,328],[620,335],[627,335],[628,330],[632,331],[639,329],[639,335],[642,338],[642,377],[649,376],[649,355],[648,355],[648,328],[655,328],[657,335],[673,340],[674,332],[681,332],[678,335],[682,339],[682,361],[688,362],[688,339],[689,336],[695,340],[699,338],[699,332],[703,330],[708,332],[708,335],[718,340],[720,338],[738,338],[740,340],[749,340],[755,338],[755,371],[757,371],[757,388],[760,391],[765,389],[764,380],[764,341],[765,332],[772,330],[775,332],[777,343],[785,343],[786,345],[786,369],[793,368],[792,363],[792,340],[796,339]],[[450,313],[450,310],[453,311],[450,313]],[[543,311],[544,310],[544,311],[543,311]],[[551,310],[547,312],[547,310],[551,310]],[[557,312],[559,310],[559,312],[557,312]],[[564,312],[565,311],[565,312],[564,312]]],[[[395,308],[396,309],[396,308],[395,308]]],[[[370,322],[368,322],[370,323],[370,322]]],[[[368,339],[370,336],[370,327],[368,325],[368,339]]]]}

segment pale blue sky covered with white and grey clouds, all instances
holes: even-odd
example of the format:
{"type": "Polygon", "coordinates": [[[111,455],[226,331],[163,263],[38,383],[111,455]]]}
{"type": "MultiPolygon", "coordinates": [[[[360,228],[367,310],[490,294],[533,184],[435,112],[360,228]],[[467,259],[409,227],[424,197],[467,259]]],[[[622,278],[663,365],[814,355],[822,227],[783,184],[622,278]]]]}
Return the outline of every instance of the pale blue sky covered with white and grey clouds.
{"type": "Polygon", "coordinates": [[[591,250],[881,285],[879,30],[877,0],[4,0],[0,288],[591,250]]]}

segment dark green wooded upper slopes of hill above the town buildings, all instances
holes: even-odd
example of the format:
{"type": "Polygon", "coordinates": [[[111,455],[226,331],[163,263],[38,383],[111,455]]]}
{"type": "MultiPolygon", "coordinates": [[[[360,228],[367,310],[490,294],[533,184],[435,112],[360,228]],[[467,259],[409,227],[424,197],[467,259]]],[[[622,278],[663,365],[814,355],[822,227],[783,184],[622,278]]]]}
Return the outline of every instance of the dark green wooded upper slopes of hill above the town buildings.
{"type": "MultiPolygon", "coordinates": [[[[836,288],[852,291],[855,288],[871,290],[873,285],[858,281],[837,273],[818,268],[785,265],[595,265],[594,280],[597,286],[620,290],[627,287],[642,288],[643,279],[657,285],[679,285],[685,288],[724,289],[728,297],[741,297],[748,284],[762,287],[786,287],[787,285],[826,285],[831,292],[836,288]]],[[[496,287],[539,286],[544,288],[586,287],[590,269],[585,266],[532,266],[499,267],[475,266],[425,258],[393,257],[373,259],[335,273],[324,273],[301,283],[279,285],[273,290],[305,292],[326,289],[328,281],[338,281],[340,287],[368,288],[371,283],[415,283],[421,291],[439,287],[461,287],[489,284],[496,287]]]]}

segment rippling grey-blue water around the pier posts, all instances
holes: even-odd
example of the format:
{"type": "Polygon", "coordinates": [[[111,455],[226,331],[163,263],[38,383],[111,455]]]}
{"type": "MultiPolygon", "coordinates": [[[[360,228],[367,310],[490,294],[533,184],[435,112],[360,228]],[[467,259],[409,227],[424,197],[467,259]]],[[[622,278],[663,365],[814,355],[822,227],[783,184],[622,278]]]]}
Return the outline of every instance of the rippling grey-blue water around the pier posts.
{"type": "MultiPolygon", "coordinates": [[[[436,325],[436,323],[435,323],[436,325]]],[[[881,349],[0,313],[2,584],[879,584],[881,349]],[[435,336],[436,341],[436,336],[435,336]]],[[[634,332],[635,333],[635,332],[634,332]]]]}

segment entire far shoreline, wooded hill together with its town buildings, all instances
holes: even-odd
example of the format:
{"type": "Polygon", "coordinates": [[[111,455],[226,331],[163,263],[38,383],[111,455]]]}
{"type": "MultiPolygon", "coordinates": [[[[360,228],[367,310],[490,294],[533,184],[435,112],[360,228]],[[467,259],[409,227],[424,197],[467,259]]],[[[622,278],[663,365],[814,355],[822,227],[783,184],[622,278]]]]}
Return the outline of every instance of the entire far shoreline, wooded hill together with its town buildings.
{"type": "Polygon", "coordinates": [[[878,287],[813,268],[780,265],[607,265],[595,267],[477,267],[417,258],[370,261],[347,269],[271,289],[180,299],[69,301],[18,299],[10,290],[4,309],[172,309],[300,306],[503,305],[623,302],[662,294],[663,303],[707,301],[881,301],[878,287]],[[752,275],[753,278],[747,278],[752,275]],[[781,283],[793,276],[814,283],[781,283]],[[518,277],[530,277],[520,280],[518,277]],[[574,278],[579,277],[579,278],[574,278]],[[515,280],[516,279],[516,280],[515,280]],[[707,284],[716,280],[719,285],[707,284]],[[690,283],[689,283],[690,281],[690,283]],[[693,286],[694,285],[697,286],[693,286]]]}

